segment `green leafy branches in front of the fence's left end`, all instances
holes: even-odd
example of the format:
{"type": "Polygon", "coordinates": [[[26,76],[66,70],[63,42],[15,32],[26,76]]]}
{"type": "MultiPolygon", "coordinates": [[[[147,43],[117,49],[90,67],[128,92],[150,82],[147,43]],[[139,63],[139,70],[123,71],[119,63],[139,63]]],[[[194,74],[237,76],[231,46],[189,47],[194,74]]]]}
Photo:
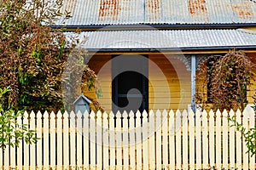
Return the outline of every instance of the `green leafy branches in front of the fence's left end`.
{"type": "Polygon", "coordinates": [[[17,118],[22,116],[22,111],[15,112],[12,108],[3,109],[3,99],[10,92],[10,88],[0,88],[0,148],[4,150],[7,145],[19,146],[20,141],[25,139],[26,144],[37,142],[35,133],[27,129],[26,124],[20,125],[17,118]]]}

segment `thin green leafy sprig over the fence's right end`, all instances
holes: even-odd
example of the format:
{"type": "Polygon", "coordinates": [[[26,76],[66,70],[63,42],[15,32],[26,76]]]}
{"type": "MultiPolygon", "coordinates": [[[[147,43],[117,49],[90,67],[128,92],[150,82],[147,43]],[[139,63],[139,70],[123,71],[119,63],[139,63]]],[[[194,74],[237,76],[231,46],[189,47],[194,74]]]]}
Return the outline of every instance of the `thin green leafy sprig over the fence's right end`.
{"type": "Polygon", "coordinates": [[[241,123],[236,122],[235,116],[229,117],[228,119],[233,123],[231,127],[236,127],[236,131],[241,132],[242,137],[245,139],[247,153],[251,153],[251,156],[254,156],[256,154],[256,125],[247,130],[241,123]]]}

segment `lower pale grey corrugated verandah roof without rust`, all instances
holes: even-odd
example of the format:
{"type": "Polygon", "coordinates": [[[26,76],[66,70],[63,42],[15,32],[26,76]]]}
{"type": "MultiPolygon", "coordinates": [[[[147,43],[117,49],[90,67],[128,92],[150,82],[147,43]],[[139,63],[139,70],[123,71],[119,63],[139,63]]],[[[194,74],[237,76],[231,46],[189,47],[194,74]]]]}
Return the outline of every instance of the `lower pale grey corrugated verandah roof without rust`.
{"type": "MultiPolygon", "coordinates": [[[[67,37],[75,33],[66,32],[67,37]]],[[[84,31],[83,48],[164,49],[164,48],[256,48],[256,31],[238,30],[168,30],[168,31],[84,31]]]]}

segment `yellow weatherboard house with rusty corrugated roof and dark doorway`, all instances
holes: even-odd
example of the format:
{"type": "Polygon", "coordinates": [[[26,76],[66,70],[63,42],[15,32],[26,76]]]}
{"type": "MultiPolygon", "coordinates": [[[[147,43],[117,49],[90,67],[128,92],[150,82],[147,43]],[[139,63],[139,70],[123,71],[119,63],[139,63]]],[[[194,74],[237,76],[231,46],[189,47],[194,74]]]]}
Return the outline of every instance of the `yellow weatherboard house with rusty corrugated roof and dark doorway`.
{"type": "Polygon", "coordinates": [[[188,109],[202,59],[233,48],[256,58],[253,0],[67,0],[64,10],[73,16],[66,34],[86,37],[86,64],[100,80],[101,98],[84,94],[105,111],[188,109]]]}

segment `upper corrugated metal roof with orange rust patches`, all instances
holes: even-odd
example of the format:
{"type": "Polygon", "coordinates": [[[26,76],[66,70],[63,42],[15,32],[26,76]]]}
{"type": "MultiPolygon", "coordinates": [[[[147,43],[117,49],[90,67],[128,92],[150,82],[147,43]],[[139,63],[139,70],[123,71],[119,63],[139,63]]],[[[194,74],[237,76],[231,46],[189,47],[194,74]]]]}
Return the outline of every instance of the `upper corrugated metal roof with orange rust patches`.
{"type": "Polygon", "coordinates": [[[67,26],[256,23],[254,0],[65,0],[63,10],[67,26]]]}

